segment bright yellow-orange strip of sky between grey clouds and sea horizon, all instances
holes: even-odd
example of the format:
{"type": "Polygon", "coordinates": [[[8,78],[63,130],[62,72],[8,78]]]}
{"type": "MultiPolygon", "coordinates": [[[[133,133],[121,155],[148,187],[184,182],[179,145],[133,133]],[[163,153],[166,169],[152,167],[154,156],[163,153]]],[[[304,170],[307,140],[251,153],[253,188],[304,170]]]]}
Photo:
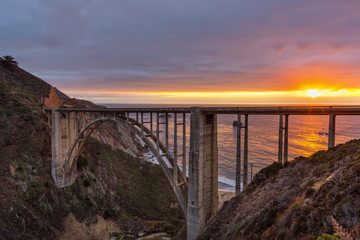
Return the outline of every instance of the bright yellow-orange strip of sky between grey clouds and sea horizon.
{"type": "Polygon", "coordinates": [[[293,91],[211,91],[211,92],[127,92],[65,89],[69,95],[99,103],[112,101],[129,103],[347,103],[360,102],[360,89],[293,90],[293,91]]]}

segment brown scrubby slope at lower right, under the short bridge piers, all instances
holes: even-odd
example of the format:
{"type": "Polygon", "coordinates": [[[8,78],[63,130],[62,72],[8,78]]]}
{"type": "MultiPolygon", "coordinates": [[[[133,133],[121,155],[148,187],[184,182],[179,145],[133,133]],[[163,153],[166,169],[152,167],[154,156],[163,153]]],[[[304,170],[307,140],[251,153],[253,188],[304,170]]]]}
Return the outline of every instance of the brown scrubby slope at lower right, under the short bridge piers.
{"type": "Polygon", "coordinates": [[[198,239],[317,239],[331,216],[360,239],[360,140],[262,169],[198,239]]]}

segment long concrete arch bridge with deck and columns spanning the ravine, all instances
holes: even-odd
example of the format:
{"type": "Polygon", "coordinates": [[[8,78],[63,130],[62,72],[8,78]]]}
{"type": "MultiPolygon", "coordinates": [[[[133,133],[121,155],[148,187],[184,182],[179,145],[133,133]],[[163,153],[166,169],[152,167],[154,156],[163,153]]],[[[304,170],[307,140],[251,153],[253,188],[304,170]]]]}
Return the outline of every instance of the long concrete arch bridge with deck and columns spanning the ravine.
{"type": "Polygon", "coordinates": [[[52,176],[58,187],[69,186],[75,182],[76,163],[81,149],[98,126],[107,121],[124,124],[147,145],[160,163],[184,212],[187,239],[193,240],[218,211],[217,115],[237,115],[235,161],[238,195],[241,191],[241,177],[244,187],[248,181],[249,115],[279,116],[278,162],[285,163],[288,161],[290,115],[328,115],[328,147],[331,148],[335,145],[336,116],[360,115],[360,106],[54,108],[45,109],[45,113],[52,128],[52,176]],[[169,119],[169,116],[172,118],[169,119]],[[186,146],[188,117],[190,117],[190,145],[186,146]],[[170,151],[169,145],[170,124],[173,127],[173,151],[170,151]],[[163,132],[160,131],[161,125],[165,128],[163,132]],[[180,152],[178,152],[179,130],[182,132],[180,152]],[[243,138],[242,134],[244,134],[243,138]],[[187,147],[190,149],[188,166],[187,147]],[[242,147],[243,156],[241,156],[242,147]]]}

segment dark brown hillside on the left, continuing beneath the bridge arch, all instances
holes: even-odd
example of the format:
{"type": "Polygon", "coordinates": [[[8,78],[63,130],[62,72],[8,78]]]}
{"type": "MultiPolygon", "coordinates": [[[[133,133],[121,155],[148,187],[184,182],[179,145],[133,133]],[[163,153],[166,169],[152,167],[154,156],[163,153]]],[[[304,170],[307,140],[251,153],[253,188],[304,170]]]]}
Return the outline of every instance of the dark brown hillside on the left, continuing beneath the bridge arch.
{"type": "Polygon", "coordinates": [[[54,185],[49,129],[37,108],[50,89],[0,62],[0,239],[176,233],[184,224],[176,197],[161,168],[140,157],[125,127],[108,124],[95,132],[79,158],[75,184],[54,185]]]}

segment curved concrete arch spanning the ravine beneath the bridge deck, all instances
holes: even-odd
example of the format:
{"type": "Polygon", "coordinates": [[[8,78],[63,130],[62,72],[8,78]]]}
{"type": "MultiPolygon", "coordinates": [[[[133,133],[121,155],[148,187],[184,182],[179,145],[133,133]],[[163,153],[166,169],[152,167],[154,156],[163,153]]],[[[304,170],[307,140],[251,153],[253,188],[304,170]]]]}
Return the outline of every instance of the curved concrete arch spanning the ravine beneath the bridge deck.
{"type": "Polygon", "coordinates": [[[129,127],[131,131],[138,136],[145,145],[149,148],[149,150],[154,154],[157,161],[159,162],[165,176],[167,177],[179,203],[183,210],[183,213],[186,217],[187,215],[187,182],[186,179],[183,179],[183,175],[177,164],[174,166],[174,161],[168,149],[166,149],[165,145],[157,138],[157,136],[150,131],[146,126],[141,125],[141,123],[135,121],[134,119],[124,119],[116,116],[101,116],[95,119],[92,119],[90,122],[86,123],[85,126],[79,131],[73,140],[71,146],[68,149],[66,157],[64,159],[61,175],[62,185],[69,185],[66,182],[74,182],[77,177],[77,160],[81,153],[81,150],[86,142],[86,139],[92,134],[92,132],[97,129],[100,125],[105,122],[112,121],[120,124],[124,124],[129,127]],[[155,147],[156,146],[156,147],[155,147]],[[164,159],[165,157],[165,159],[164,159]],[[167,161],[165,161],[167,160],[167,161]],[[178,174],[177,178],[173,176],[173,171],[170,170],[169,167],[176,168],[178,174]],[[178,180],[181,184],[178,183],[178,180]]]}

